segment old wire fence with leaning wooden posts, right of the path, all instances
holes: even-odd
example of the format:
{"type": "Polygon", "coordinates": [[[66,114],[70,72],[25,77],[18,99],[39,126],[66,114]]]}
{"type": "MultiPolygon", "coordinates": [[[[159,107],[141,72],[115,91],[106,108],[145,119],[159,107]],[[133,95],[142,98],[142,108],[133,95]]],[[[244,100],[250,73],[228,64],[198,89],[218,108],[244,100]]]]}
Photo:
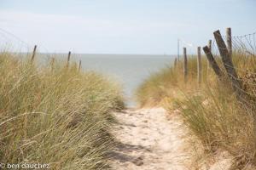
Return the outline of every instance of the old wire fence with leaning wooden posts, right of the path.
{"type": "MultiPolygon", "coordinates": [[[[246,34],[243,36],[232,36],[231,28],[226,29],[226,35],[222,36],[220,31],[213,32],[214,39],[209,40],[207,46],[203,48],[204,53],[207,56],[207,75],[209,68],[211,67],[215,75],[218,77],[219,82],[226,84],[227,79],[230,81],[231,89],[233,89],[236,98],[241,104],[252,106],[247,99],[252,100],[252,96],[243,87],[243,80],[238,77],[237,71],[241,71],[242,74],[247,75],[247,70],[236,68],[233,64],[232,56],[234,54],[241,53],[242,57],[250,57],[248,59],[254,59],[256,52],[256,32],[246,34]],[[224,41],[225,40],[225,41],[224,41]],[[218,60],[217,60],[218,59],[218,60]],[[222,65],[219,65],[222,64],[222,65]]],[[[184,42],[184,41],[183,41],[184,42]]],[[[188,43],[186,43],[188,44],[188,43]]],[[[189,43],[189,47],[194,47],[193,44],[189,43]]],[[[187,53],[184,48],[184,68],[187,64],[187,53]],[[186,60],[185,60],[186,58],[186,60]],[[186,63],[185,63],[186,62],[186,63]]],[[[236,58],[237,59],[237,58],[236,58]]],[[[254,77],[256,80],[256,73],[249,73],[249,78],[254,77]]],[[[184,80],[187,82],[188,70],[184,69],[184,80]]],[[[197,79],[198,84],[201,84],[201,53],[200,47],[197,48],[197,79]]],[[[256,82],[246,82],[247,84],[255,86],[256,82]]],[[[254,98],[253,98],[254,99],[254,98]]]]}

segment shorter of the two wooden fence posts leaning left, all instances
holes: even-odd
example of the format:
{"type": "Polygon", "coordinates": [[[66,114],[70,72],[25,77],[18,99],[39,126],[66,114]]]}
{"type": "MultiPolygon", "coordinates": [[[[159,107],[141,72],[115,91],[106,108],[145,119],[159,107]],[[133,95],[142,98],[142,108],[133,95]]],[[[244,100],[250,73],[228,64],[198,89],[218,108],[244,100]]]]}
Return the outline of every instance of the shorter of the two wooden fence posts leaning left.
{"type": "Polygon", "coordinates": [[[209,64],[211,65],[212,67],[212,70],[215,72],[215,74],[218,76],[218,79],[221,80],[222,77],[224,76],[223,75],[223,72],[220,70],[216,60],[213,58],[213,55],[212,55],[212,52],[210,51],[210,48],[205,46],[203,48],[205,54],[207,55],[207,59],[208,59],[208,62],[209,64]]]}

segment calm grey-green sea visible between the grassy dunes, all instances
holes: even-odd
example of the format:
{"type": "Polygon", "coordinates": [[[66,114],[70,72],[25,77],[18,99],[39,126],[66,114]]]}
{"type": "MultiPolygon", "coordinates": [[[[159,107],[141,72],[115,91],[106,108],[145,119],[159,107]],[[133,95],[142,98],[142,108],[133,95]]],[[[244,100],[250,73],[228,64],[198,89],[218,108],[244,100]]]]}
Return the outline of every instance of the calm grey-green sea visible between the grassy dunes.
{"type": "MultiPolygon", "coordinates": [[[[37,54],[37,58],[55,56],[67,59],[67,54],[37,54]]],[[[175,55],[167,54],[71,54],[71,61],[82,61],[84,71],[97,71],[118,81],[128,107],[136,107],[135,91],[150,74],[171,65],[175,55]]]]}

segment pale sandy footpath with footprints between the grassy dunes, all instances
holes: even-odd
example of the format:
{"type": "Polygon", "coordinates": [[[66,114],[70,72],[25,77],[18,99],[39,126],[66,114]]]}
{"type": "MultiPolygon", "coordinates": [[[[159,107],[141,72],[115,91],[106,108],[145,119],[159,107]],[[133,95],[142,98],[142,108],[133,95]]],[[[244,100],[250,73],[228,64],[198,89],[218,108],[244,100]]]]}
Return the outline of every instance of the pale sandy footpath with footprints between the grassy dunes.
{"type": "Polygon", "coordinates": [[[167,117],[162,108],[114,113],[113,132],[120,145],[113,153],[113,169],[191,169],[188,130],[177,113],[167,117]]]}

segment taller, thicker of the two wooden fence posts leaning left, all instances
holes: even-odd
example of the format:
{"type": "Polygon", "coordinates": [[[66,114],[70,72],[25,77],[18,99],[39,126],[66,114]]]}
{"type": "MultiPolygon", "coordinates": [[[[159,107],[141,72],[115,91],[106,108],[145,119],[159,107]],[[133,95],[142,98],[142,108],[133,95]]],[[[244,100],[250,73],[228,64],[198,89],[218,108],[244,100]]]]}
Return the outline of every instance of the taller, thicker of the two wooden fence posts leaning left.
{"type": "Polygon", "coordinates": [[[225,44],[223,38],[221,37],[221,34],[219,31],[214,31],[213,35],[216,39],[219,54],[223,61],[224,68],[228,73],[228,77],[230,78],[232,87],[234,88],[236,94],[240,95],[241,94],[241,82],[238,80],[236,69],[233,65],[232,59],[230,58],[230,53],[226,47],[226,44],[225,44]]]}

